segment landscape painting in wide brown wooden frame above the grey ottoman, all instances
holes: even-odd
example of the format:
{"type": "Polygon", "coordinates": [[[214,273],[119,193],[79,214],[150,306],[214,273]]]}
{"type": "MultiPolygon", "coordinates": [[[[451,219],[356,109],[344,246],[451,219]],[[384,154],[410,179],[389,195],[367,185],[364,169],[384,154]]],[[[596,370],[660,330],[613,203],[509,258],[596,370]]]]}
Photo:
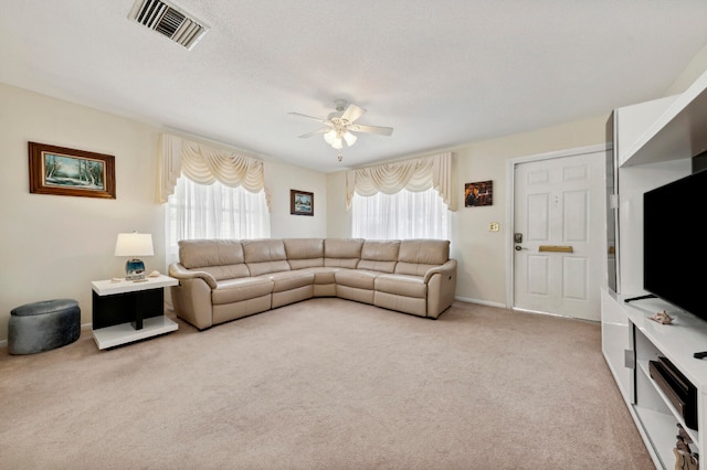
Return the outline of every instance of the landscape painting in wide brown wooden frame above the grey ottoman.
{"type": "Polygon", "coordinates": [[[115,199],[115,157],[29,142],[30,192],[115,199]]]}

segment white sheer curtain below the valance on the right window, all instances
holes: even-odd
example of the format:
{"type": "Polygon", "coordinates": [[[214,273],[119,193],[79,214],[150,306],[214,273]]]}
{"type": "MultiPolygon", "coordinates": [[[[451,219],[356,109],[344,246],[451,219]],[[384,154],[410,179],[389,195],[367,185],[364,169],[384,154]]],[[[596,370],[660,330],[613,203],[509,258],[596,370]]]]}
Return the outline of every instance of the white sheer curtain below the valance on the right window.
{"type": "Polygon", "coordinates": [[[436,190],[355,194],[351,236],[369,239],[450,239],[449,210],[436,190]]]}

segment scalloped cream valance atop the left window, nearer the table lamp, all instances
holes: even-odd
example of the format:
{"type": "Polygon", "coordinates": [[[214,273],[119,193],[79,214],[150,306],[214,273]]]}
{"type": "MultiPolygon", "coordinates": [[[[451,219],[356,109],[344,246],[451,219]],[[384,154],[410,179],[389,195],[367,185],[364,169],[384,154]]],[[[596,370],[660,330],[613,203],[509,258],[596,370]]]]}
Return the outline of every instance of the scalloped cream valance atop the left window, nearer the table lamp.
{"type": "Polygon", "coordinates": [[[270,192],[261,159],[205,146],[169,133],[160,135],[158,201],[166,203],[175,192],[180,174],[200,184],[215,181],[231,188],[243,186],[256,193],[265,190],[270,210],[270,192]]]}

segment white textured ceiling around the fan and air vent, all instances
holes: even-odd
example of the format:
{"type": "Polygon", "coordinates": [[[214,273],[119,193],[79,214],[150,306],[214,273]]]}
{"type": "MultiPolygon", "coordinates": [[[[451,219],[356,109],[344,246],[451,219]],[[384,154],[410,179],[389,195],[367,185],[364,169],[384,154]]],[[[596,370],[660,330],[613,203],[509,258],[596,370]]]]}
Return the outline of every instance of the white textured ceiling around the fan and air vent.
{"type": "Polygon", "coordinates": [[[193,50],[134,0],[0,0],[0,83],[330,172],[662,96],[707,44],[705,0],[175,0],[193,50]],[[297,136],[368,110],[342,162],[297,136]]]}

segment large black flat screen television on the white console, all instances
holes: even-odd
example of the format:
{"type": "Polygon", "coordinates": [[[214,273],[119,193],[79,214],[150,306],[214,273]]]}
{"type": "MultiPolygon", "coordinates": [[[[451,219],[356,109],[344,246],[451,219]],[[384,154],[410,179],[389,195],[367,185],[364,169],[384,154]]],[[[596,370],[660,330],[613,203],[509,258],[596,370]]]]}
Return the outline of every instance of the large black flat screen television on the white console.
{"type": "Polygon", "coordinates": [[[707,320],[707,170],[643,195],[643,288],[707,320]]]}

